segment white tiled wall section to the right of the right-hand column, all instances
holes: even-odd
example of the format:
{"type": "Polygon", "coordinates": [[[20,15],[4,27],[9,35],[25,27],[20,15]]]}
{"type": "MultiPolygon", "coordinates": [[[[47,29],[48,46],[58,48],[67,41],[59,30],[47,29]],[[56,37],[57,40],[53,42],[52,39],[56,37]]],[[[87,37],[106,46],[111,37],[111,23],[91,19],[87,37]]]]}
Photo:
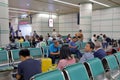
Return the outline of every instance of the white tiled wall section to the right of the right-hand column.
{"type": "Polygon", "coordinates": [[[93,11],[92,34],[103,33],[115,39],[120,34],[120,7],[93,11]]]}

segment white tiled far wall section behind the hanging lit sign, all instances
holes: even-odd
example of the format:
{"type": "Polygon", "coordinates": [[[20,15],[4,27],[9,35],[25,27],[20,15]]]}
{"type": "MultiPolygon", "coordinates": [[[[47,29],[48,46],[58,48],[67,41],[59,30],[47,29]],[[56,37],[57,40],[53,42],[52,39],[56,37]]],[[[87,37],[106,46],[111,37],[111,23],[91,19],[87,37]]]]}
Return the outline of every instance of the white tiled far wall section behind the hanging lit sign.
{"type": "MultiPolygon", "coordinates": [[[[45,13],[49,14],[49,13],[45,13]]],[[[49,14],[50,15],[50,14],[49,14]]],[[[39,35],[46,36],[47,33],[52,33],[53,28],[56,29],[56,32],[59,33],[59,18],[58,16],[54,18],[54,26],[53,28],[48,27],[48,19],[49,17],[43,17],[39,14],[32,16],[32,31],[36,31],[39,35]]]]}

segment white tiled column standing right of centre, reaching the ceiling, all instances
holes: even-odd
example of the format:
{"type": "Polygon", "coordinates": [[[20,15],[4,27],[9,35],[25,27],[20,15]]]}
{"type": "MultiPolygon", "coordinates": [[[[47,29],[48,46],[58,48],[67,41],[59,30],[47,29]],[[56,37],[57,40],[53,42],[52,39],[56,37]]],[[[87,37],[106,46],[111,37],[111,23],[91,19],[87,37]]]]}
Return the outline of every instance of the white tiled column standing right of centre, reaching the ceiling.
{"type": "Polygon", "coordinates": [[[91,38],[92,3],[80,4],[80,27],[84,34],[84,41],[91,38]]]}

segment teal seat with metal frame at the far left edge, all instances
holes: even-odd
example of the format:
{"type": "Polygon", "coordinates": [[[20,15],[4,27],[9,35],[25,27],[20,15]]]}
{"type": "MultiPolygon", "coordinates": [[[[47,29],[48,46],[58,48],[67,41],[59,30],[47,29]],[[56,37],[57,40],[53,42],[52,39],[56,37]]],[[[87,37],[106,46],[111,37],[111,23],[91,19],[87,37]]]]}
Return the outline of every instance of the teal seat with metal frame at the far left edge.
{"type": "Polygon", "coordinates": [[[13,67],[9,63],[9,55],[6,50],[0,51],[0,71],[12,70],[13,67]]]}

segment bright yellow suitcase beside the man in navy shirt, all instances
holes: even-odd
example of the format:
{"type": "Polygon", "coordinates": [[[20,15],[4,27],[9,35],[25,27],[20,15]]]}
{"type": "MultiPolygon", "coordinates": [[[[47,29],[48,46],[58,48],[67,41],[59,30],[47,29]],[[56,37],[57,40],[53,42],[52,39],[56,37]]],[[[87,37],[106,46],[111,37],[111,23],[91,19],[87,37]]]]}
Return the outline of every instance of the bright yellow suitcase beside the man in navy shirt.
{"type": "Polygon", "coordinates": [[[41,58],[42,72],[47,72],[51,66],[52,66],[51,58],[41,58]]]}

